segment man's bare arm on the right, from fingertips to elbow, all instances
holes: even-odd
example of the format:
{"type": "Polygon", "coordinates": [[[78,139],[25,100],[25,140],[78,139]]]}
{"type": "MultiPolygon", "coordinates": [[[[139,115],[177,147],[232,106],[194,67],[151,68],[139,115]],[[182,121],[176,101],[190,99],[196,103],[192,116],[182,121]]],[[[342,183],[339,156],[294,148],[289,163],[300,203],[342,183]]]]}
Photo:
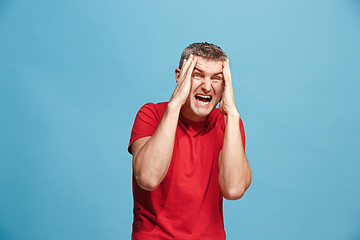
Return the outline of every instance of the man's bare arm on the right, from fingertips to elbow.
{"type": "Polygon", "coordinates": [[[240,199],[251,183],[251,170],[247,161],[240,132],[240,114],[235,106],[229,60],[223,64],[224,90],[220,111],[225,117],[223,148],[219,153],[219,187],[228,200],[240,199]]]}

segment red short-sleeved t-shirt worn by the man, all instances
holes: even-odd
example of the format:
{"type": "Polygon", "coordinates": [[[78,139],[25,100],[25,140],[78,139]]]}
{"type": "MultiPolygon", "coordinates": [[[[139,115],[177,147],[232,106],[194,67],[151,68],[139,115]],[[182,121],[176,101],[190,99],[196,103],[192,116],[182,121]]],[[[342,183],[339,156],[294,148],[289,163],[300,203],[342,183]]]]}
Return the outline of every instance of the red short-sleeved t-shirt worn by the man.
{"type": "MultiPolygon", "coordinates": [[[[151,136],[167,103],[148,103],[138,112],[129,142],[151,136]]],[[[132,239],[225,239],[218,185],[218,155],[224,139],[224,116],[214,109],[204,122],[180,116],[173,157],[155,191],[143,190],[133,177],[132,239]]],[[[242,121],[240,130],[245,148],[242,121]]],[[[131,152],[130,152],[131,153],[131,152]]]]}

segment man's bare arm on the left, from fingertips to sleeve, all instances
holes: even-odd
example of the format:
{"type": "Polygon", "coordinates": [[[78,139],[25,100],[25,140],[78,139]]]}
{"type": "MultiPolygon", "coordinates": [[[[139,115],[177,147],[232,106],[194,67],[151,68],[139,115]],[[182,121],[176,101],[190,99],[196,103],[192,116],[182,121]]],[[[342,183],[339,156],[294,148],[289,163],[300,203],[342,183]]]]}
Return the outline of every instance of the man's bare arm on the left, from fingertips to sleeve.
{"type": "Polygon", "coordinates": [[[195,64],[196,58],[192,55],[184,61],[174,93],[155,133],[136,140],[131,146],[134,176],[145,190],[155,190],[169,169],[180,109],[189,95],[195,64]]]}

